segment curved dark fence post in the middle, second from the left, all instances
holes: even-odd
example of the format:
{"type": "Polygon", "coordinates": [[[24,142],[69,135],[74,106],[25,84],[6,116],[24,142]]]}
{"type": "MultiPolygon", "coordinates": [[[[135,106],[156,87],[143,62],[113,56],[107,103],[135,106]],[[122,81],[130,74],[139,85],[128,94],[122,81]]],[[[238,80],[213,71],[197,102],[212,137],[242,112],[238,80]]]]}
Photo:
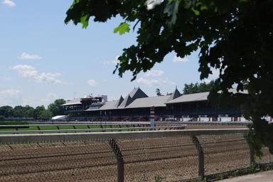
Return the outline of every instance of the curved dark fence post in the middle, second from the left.
{"type": "Polygon", "coordinates": [[[198,152],[198,176],[203,178],[205,176],[205,168],[204,168],[204,151],[203,147],[201,146],[198,138],[193,135],[193,144],[196,146],[198,152]]]}

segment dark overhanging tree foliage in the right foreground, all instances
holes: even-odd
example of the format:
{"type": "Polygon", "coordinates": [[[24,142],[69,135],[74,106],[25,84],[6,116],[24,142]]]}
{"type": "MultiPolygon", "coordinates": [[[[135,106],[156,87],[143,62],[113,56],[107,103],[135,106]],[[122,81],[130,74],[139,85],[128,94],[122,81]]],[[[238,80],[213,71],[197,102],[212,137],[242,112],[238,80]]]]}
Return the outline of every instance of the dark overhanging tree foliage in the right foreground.
{"type": "MultiPolygon", "coordinates": [[[[90,17],[106,22],[121,16],[124,21],[114,29],[119,34],[134,25],[137,44],[124,48],[114,70],[121,77],[131,71],[133,80],[168,53],[183,58],[198,51],[200,79],[213,68],[220,72],[210,100],[240,102],[244,116],[254,122],[250,136],[273,153],[273,125],[262,119],[273,116],[272,6],[271,0],[74,0],[65,23],[87,28],[90,17]],[[234,86],[237,92],[230,92],[234,86]],[[244,87],[247,92],[239,92],[244,87]]],[[[261,145],[256,146],[258,151],[261,145]]]]}

